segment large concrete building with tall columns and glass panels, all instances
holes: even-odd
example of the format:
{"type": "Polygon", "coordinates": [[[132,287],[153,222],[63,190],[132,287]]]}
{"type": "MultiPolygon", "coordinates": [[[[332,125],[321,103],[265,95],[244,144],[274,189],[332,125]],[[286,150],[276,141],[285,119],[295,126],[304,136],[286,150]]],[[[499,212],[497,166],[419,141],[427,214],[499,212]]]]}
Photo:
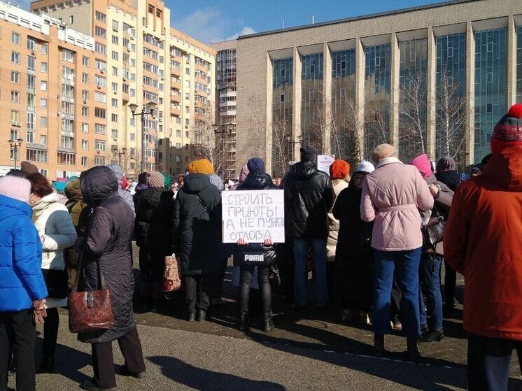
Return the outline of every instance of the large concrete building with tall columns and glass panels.
{"type": "Polygon", "coordinates": [[[237,167],[280,174],[299,145],[352,164],[389,142],[461,165],[522,101],[520,0],[456,0],[241,36],[237,167]]]}

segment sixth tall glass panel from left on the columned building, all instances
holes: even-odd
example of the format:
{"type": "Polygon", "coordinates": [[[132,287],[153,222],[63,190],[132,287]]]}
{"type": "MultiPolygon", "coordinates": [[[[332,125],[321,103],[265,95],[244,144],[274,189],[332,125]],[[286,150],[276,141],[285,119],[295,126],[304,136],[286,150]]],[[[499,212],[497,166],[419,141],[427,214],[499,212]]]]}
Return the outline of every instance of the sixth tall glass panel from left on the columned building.
{"type": "Polygon", "coordinates": [[[436,158],[465,166],[466,34],[439,36],[437,45],[436,158]]]}

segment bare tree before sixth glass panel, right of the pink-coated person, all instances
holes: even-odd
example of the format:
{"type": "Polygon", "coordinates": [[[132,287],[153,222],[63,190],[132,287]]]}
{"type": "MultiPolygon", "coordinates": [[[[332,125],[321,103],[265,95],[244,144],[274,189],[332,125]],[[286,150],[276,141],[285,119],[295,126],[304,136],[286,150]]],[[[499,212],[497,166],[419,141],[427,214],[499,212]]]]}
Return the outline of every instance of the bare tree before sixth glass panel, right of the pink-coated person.
{"type": "Polygon", "coordinates": [[[437,85],[437,157],[451,156],[459,164],[465,164],[465,107],[463,83],[444,68],[437,85]]]}

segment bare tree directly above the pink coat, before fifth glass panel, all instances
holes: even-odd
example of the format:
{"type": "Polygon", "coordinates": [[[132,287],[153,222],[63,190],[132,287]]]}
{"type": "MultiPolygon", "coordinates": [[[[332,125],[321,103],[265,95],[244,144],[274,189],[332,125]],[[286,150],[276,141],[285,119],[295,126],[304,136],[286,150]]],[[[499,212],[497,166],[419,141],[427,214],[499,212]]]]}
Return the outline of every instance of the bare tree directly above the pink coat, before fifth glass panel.
{"type": "Polygon", "coordinates": [[[427,99],[425,73],[418,69],[404,76],[399,100],[399,152],[404,162],[426,151],[427,99]]]}

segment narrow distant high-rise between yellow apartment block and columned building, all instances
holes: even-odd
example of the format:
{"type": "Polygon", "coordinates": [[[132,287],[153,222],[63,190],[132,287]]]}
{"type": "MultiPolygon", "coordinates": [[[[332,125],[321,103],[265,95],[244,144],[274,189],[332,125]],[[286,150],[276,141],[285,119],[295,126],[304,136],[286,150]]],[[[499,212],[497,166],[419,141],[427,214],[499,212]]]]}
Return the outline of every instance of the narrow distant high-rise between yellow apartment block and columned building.
{"type": "Polygon", "coordinates": [[[236,60],[237,41],[212,43],[216,49],[216,123],[221,153],[224,154],[223,178],[237,178],[236,170],[236,60]]]}

